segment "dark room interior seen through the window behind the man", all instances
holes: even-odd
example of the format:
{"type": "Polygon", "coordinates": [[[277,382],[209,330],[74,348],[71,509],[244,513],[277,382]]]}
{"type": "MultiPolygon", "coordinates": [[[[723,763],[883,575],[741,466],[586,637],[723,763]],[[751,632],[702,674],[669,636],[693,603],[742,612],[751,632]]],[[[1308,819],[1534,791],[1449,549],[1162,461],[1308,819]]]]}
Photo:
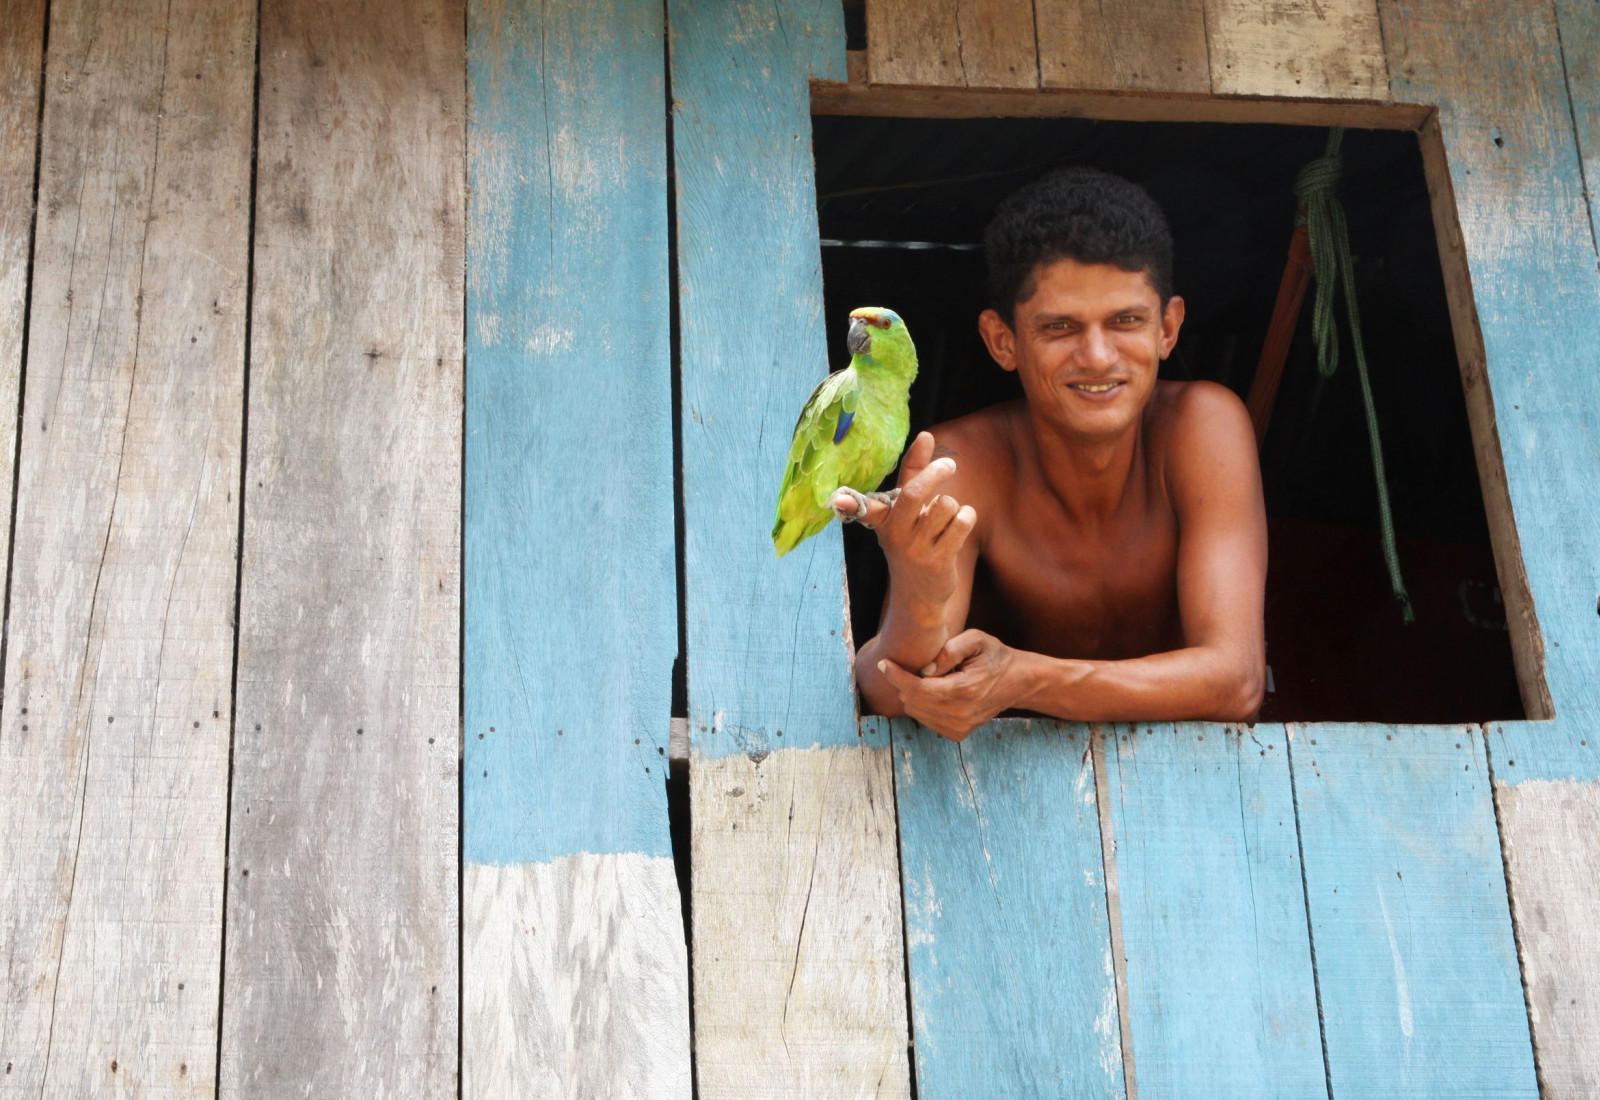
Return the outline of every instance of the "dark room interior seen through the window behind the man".
{"type": "MultiPolygon", "coordinates": [[[[848,358],[851,309],[898,310],[920,358],[912,432],[1019,397],[978,339],[987,304],[978,241],[1005,195],[1067,165],[1126,176],[1166,211],[1187,320],[1162,376],[1245,397],[1294,229],[1294,177],[1326,142],[1325,130],[1266,125],[813,123],[832,366],[848,358]]],[[[1520,718],[1416,134],[1349,131],[1339,190],[1416,622],[1402,624],[1382,566],[1349,339],[1323,381],[1307,294],[1261,451],[1270,539],[1261,719],[1520,718]]],[[[1339,318],[1342,331],[1342,304],[1339,318]]],[[[883,601],[883,560],[859,528],[845,529],[845,555],[864,640],[883,601]]]]}

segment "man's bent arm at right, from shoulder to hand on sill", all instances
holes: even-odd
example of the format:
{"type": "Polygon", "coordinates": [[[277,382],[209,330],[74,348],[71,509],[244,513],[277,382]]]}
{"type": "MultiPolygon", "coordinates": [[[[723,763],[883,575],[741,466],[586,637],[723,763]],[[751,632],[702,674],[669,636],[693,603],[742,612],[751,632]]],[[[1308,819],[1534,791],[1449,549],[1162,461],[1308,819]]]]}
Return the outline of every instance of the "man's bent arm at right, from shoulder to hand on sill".
{"type": "Polygon", "coordinates": [[[1267,521],[1254,433],[1237,397],[1189,387],[1166,470],[1184,648],[1069,660],[966,630],[944,646],[928,678],[883,664],[904,713],[957,739],[1013,707],[1075,721],[1251,719],[1266,678],[1267,521]]]}

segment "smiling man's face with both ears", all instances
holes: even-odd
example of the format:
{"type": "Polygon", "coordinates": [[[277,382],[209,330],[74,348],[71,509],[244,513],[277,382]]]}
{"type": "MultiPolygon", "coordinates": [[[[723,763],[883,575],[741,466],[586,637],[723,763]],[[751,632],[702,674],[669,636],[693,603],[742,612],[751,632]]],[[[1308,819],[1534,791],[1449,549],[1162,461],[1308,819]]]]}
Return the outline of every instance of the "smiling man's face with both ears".
{"type": "Polygon", "coordinates": [[[1067,435],[1112,438],[1138,422],[1182,320],[1182,299],[1163,310],[1144,272],[1061,259],[1034,269],[1013,325],[984,310],[978,326],[1035,416],[1067,435]]]}

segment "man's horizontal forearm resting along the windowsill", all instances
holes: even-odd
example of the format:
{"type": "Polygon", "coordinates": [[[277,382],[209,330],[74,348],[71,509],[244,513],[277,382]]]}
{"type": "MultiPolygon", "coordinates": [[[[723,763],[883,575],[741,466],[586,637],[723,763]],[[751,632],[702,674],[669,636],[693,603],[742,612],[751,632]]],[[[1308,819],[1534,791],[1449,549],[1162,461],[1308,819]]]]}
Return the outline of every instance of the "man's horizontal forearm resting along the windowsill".
{"type": "Polygon", "coordinates": [[[1259,662],[1208,646],[1131,660],[1021,659],[1016,707],[1069,721],[1253,721],[1259,662]]]}

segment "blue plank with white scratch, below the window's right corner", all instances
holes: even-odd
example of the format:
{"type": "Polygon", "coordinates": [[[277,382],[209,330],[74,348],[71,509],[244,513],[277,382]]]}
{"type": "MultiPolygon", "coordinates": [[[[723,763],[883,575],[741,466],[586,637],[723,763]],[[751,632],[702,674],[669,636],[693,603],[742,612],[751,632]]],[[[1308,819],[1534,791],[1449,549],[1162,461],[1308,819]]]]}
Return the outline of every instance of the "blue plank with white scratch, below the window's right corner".
{"type": "Polygon", "coordinates": [[[1291,731],[1334,1097],[1536,1097],[1475,726],[1291,731]]]}

